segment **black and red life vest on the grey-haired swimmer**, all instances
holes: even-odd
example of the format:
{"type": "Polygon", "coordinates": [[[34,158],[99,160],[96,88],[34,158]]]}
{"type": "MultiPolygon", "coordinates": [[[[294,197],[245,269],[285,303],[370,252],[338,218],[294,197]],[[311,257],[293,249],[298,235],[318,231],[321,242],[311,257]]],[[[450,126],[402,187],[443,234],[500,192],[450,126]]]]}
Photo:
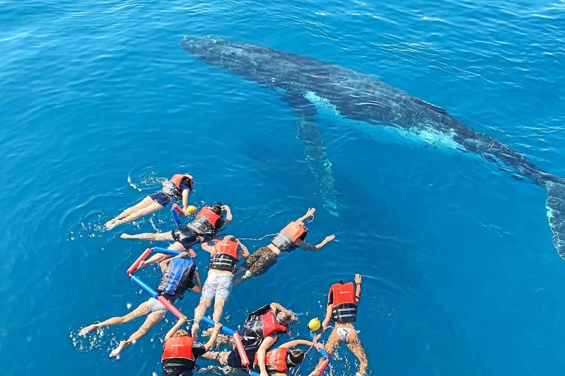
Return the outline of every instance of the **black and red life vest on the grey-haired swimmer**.
{"type": "Polygon", "coordinates": [[[271,334],[284,334],[287,329],[287,326],[277,322],[275,312],[267,304],[246,318],[241,333],[242,343],[247,351],[257,351],[263,339],[271,334]]]}

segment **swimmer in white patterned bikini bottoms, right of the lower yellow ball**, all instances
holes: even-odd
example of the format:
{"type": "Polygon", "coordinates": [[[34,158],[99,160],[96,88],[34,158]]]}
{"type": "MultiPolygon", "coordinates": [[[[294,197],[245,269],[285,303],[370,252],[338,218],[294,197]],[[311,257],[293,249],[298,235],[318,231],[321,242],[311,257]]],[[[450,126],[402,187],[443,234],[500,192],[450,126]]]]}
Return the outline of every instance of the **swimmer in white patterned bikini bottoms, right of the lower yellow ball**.
{"type": "Polygon", "coordinates": [[[353,355],[359,360],[359,371],[355,375],[363,376],[367,372],[369,361],[353,326],[355,320],[357,320],[357,307],[361,295],[361,276],[359,274],[355,274],[355,286],[357,288],[354,288],[353,282],[343,283],[340,281],[329,289],[325,318],[321,324],[321,332],[316,336],[316,339],[320,338],[321,334],[328,328],[330,321],[333,320],[335,326],[325,344],[325,351],[328,355],[332,355],[340,346],[340,343],[345,342],[353,355]]]}

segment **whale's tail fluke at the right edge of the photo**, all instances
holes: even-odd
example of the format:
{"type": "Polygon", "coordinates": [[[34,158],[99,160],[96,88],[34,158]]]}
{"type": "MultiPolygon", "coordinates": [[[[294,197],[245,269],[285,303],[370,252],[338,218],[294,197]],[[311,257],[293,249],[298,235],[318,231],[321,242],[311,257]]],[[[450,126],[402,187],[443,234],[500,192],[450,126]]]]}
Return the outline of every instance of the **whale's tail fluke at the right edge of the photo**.
{"type": "Polygon", "coordinates": [[[553,244],[559,256],[565,259],[565,182],[546,183],[547,187],[547,218],[553,231],[553,244]]]}

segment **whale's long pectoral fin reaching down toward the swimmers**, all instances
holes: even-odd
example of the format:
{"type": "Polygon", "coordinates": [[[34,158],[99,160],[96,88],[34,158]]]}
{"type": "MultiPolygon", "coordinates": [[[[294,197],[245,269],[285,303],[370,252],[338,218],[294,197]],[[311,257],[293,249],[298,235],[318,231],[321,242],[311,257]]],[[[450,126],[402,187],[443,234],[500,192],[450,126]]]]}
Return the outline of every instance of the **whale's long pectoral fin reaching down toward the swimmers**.
{"type": "Polygon", "coordinates": [[[332,215],[338,216],[332,164],[324,147],[324,138],[321,135],[320,126],[315,121],[318,111],[314,104],[304,97],[303,93],[285,91],[278,94],[289,104],[299,118],[297,137],[306,145],[306,160],[320,184],[324,207],[332,215]]]}

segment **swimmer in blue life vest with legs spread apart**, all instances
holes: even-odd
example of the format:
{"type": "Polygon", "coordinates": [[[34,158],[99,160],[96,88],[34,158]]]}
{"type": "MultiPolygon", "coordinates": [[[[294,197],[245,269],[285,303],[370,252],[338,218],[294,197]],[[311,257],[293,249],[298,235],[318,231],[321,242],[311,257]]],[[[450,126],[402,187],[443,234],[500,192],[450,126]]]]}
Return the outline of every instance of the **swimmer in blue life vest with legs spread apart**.
{"type": "MultiPolygon", "coordinates": [[[[155,290],[157,290],[160,295],[164,296],[164,298],[171,303],[175,303],[175,300],[179,298],[182,299],[182,295],[189,288],[194,292],[201,292],[202,290],[200,278],[198,277],[194,261],[184,259],[184,257],[188,255],[188,252],[182,252],[179,256],[162,261],[160,264],[163,277],[159,282],[159,286],[155,290]],[[193,279],[195,279],[196,283],[194,283],[193,279]]],[[[119,325],[121,323],[129,322],[134,318],[144,316],[146,314],[147,318],[140,328],[129,336],[128,340],[121,341],[119,346],[110,353],[110,357],[118,356],[124,348],[132,344],[132,342],[140,339],[145,335],[145,333],[147,333],[147,331],[155,326],[155,324],[163,320],[166,313],[167,308],[160,303],[160,301],[155,298],[150,298],[138,305],[136,309],[125,316],[108,318],[108,320],[94,323],[82,328],[79,331],[79,335],[86,335],[89,331],[98,329],[102,326],[119,325]]]]}

